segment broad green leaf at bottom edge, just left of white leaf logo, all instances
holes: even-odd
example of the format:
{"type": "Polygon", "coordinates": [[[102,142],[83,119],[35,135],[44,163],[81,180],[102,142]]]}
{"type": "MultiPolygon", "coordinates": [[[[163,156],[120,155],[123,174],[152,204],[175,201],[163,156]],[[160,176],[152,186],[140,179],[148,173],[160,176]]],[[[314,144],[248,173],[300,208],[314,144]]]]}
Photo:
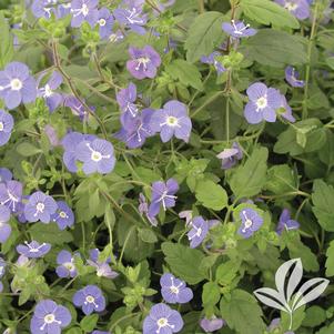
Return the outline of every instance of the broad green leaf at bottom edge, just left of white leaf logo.
{"type": "Polygon", "coordinates": [[[232,291],[231,296],[223,296],[220,308],[229,327],[237,333],[263,333],[262,311],[255,297],[246,291],[236,289],[232,291]]]}

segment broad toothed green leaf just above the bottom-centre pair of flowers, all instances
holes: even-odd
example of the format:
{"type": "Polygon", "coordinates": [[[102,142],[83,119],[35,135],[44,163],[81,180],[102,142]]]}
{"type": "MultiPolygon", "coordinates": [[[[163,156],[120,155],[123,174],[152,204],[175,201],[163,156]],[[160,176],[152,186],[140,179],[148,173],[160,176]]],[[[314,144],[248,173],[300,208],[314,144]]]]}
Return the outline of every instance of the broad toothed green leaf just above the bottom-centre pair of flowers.
{"type": "Polygon", "coordinates": [[[164,242],[161,249],[166,256],[166,263],[176,276],[189,284],[198,284],[206,279],[204,272],[199,267],[199,263],[204,259],[201,251],[171,242],[164,242]]]}

